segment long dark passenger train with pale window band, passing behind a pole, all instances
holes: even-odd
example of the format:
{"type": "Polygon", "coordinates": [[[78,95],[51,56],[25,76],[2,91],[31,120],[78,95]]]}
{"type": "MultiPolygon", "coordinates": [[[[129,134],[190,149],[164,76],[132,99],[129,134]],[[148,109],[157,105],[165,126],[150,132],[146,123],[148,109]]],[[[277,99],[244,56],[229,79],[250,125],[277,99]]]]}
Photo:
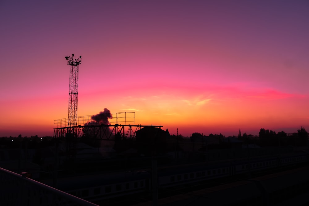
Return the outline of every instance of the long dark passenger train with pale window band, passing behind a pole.
{"type": "MultiPolygon", "coordinates": [[[[159,167],[158,187],[169,188],[219,178],[231,178],[232,180],[233,177],[249,172],[254,174],[298,164],[308,165],[308,162],[308,153],[298,152],[277,157],[243,158],[159,167]]],[[[45,182],[45,184],[50,183],[45,182]]],[[[152,190],[151,170],[62,178],[57,181],[57,189],[89,201],[147,192],[152,190]]]]}

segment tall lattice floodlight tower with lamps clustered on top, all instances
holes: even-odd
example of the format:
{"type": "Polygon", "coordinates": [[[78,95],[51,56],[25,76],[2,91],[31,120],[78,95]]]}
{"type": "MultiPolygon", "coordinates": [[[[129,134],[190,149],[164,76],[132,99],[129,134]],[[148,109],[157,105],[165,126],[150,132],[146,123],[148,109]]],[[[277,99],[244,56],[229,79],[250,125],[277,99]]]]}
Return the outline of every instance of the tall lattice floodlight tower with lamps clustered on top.
{"type": "Polygon", "coordinates": [[[78,65],[82,63],[82,56],[76,58],[72,54],[72,57],[65,58],[70,65],[68,136],[77,137],[78,65]]]}

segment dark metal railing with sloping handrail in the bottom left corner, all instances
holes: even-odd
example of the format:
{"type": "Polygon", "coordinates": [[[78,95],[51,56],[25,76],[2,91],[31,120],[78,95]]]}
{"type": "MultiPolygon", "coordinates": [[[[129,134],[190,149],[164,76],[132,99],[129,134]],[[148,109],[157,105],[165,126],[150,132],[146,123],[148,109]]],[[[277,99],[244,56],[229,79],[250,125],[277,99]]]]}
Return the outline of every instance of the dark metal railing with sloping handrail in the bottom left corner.
{"type": "Polygon", "coordinates": [[[66,192],[49,187],[26,177],[0,168],[1,205],[20,206],[98,206],[66,192]]]}

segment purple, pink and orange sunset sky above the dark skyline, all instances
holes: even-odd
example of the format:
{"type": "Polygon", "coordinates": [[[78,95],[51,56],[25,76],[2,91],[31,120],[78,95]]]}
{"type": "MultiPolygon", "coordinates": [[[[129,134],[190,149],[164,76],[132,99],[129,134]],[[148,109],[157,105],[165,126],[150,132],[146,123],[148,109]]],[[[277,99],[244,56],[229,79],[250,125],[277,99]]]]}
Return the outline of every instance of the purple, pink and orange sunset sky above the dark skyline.
{"type": "Polygon", "coordinates": [[[0,2],[0,137],[53,136],[65,56],[78,116],[134,111],[171,134],[309,131],[309,1],[0,2]]]}

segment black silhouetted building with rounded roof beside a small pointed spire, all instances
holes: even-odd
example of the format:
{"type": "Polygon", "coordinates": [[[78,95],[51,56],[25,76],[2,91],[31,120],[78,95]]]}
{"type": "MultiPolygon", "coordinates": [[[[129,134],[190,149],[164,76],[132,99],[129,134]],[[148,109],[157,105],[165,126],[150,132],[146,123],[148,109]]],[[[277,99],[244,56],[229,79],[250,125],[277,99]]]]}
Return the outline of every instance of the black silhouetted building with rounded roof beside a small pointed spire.
{"type": "Polygon", "coordinates": [[[157,127],[144,127],[135,132],[136,149],[138,153],[151,155],[152,152],[165,153],[166,138],[170,136],[168,130],[157,127]]]}

